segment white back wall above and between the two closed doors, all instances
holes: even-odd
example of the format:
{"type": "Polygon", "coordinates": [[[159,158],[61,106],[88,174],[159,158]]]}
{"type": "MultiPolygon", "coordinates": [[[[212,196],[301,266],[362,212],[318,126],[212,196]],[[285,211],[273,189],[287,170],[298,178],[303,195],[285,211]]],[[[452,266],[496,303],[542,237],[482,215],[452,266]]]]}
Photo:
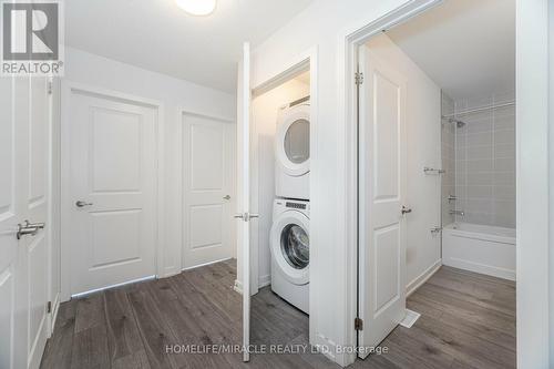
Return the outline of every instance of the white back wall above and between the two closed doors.
{"type": "Polygon", "coordinates": [[[156,100],[163,104],[165,258],[162,276],[179,273],[182,256],[182,191],[178,187],[182,174],[179,109],[235,121],[235,96],[72,48],[65,48],[64,79],[156,100]]]}

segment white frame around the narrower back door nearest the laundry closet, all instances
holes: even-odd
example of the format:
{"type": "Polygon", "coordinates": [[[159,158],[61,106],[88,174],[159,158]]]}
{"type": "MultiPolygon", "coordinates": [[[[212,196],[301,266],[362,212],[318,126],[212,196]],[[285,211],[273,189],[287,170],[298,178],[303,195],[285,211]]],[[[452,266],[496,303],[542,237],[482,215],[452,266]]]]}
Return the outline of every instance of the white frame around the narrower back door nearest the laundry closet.
{"type": "MultiPolygon", "coordinates": [[[[178,160],[178,163],[179,163],[179,176],[178,176],[178,193],[181,195],[181,199],[179,199],[179,218],[178,218],[178,226],[182,226],[184,224],[184,221],[185,221],[185,208],[186,208],[186,204],[188,203],[188,198],[186,198],[186,194],[185,194],[185,175],[186,174],[189,174],[189,173],[185,173],[185,163],[183,161],[183,150],[188,150],[189,147],[186,146],[186,143],[183,141],[183,134],[184,134],[184,126],[183,126],[183,116],[199,116],[199,117],[205,117],[205,119],[209,119],[209,120],[214,120],[214,121],[218,121],[218,122],[223,122],[223,123],[226,123],[226,124],[235,124],[235,134],[236,134],[236,120],[233,119],[233,117],[227,117],[227,116],[224,116],[224,115],[217,115],[217,114],[211,114],[211,113],[203,113],[203,112],[198,112],[198,111],[194,111],[194,110],[191,110],[191,109],[187,109],[187,107],[179,107],[177,110],[177,124],[178,124],[178,129],[177,129],[177,135],[178,135],[178,147],[179,147],[179,160],[178,160]]],[[[233,148],[233,154],[235,155],[236,154],[236,147],[233,148]]],[[[234,163],[236,164],[236,157],[234,160],[234,163]]],[[[237,198],[237,185],[236,185],[236,165],[235,165],[235,171],[233,171],[233,177],[232,177],[232,189],[230,189],[230,195],[232,195],[232,202],[230,202],[230,206],[233,208],[233,212],[235,211],[235,207],[236,207],[236,198],[237,198]]],[[[229,218],[229,222],[232,223],[232,229],[235,229],[236,228],[236,224],[235,224],[235,219],[234,218],[229,218]]],[[[172,274],[178,274],[181,273],[182,270],[184,270],[183,266],[185,265],[184,262],[183,262],[183,256],[184,256],[184,253],[183,253],[183,247],[185,247],[185,235],[184,235],[184,232],[185,232],[185,228],[181,229],[179,232],[179,240],[181,240],[181,247],[179,247],[179,256],[178,256],[178,268],[177,270],[172,270],[172,274]]],[[[229,240],[232,243],[236,243],[236,236],[234,235],[235,230],[233,230],[230,237],[229,237],[229,240]]],[[[237,247],[238,245],[235,244],[234,246],[234,253],[233,255],[237,256],[237,247]]],[[[214,263],[218,263],[218,262],[223,262],[223,260],[217,260],[217,262],[213,262],[213,263],[209,263],[209,264],[214,264],[214,263]]],[[[202,265],[198,265],[198,266],[194,266],[193,268],[196,268],[196,267],[199,267],[202,265]]]]}

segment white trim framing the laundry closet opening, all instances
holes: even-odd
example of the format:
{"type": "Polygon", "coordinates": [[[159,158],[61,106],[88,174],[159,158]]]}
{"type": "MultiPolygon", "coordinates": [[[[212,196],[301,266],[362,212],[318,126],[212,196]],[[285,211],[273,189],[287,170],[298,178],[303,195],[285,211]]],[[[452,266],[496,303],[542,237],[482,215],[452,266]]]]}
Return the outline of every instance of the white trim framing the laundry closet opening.
{"type": "MultiPolygon", "coordinates": [[[[259,95],[264,92],[269,91],[271,88],[275,88],[279,85],[280,83],[285,82],[286,80],[290,79],[291,76],[295,75],[295,73],[299,74],[299,71],[306,71],[306,65],[309,65],[309,72],[310,72],[310,198],[322,198],[318,196],[314,196],[316,191],[318,189],[316,183],[316,178],[318,177],[319,168],[316,167],[317,163],[317,157],[318,156],[318,150],[317,150],[317,135],[318,135],[318,47],[311,47],[304,52],[298,53],[296,57],[287,60],[283,64],[280,64],[278,68],[276,68],[271,73],[266,75],[265,78],[261,79],[261,82],[257,83],[256,86],[254,86],[250,91],[253,93],[256,93],[256,95],[259,95]],[[261,92],[260,92],[261,91],[261,92]]],[[[255,126],[256,124],[254,124],[255,126]]],[[[254,136],[255,142],[257,142],[257,134],[254,136]]],[[[257,147],[254,146],[254,147],[257,147]]],[[[255,155],[257,156],[256,150],[255,150],[255,155]]],[[[258,178],[255,177],[253,180],[252,186],[250,186],[250,192],[258,193],[257,187],[259,186],[258,178]],[[256,187],[256,188],[255,188],[256,187]]],[[[258,201],[256,199],[256,206],[258,204],[258,201]]],[[[314,207],[314,204],[310,204],[310,207],[314,207]]],[[[316,203],[316,208],[317,208],[317,203],[316,203]]],[[[254,209],[253,209],[254,211],[254,209]]],[[[257,208],[255,209],[257,211],[257,208]]],[[[318,243],[318,222],[319,217],[316,215],[312,215],[310,212],[310,228],[311,234],[310,234],[310,243],[314,245],[317,245],[318,243]]],[[[257,222],[252,222],[250,227],[253,227],[253,233],[257,233],[258,228],[258,223],[257,222]]],[[[259,245],[259,239],[257,237],[254,238],[254,243],[252,245],[252,248],[257,249],[259,245]]],[[[258,274],[258,260],[257,258],[254,259],[255,264],[255,269],[256,274],[252,276],[255,278],[255,286],[260,286],[259,283],[259,276],[258,274]]],[[[310,288],[309,288],[309,306],[317,306],[316,305],[316,290],[317,288],[325,288],[324,286],[319,286],[317,280],[318,280],[318,274],[325,273],[325,270],[319,270],[317,268],[317,265],[319,264],[319,257],[317,253],[317,248],[311,248],[310,249],[310,288]]],[[[237,288],[240,288],[240,286],[235,286],[235,290],[237,288]]],[[[309,342],[311,345],[322,345],[324,347],[328,346],[329,342],[324,339],[324,336],[317,335],[317,327],[318,327],[318,311],[317,309],[310,309],[309,314],[309,342]]],[[[326,353],[326,352],[325,352],[326,353]]],[[[327,353],[326,353],[327,355],[327,353]]]]}

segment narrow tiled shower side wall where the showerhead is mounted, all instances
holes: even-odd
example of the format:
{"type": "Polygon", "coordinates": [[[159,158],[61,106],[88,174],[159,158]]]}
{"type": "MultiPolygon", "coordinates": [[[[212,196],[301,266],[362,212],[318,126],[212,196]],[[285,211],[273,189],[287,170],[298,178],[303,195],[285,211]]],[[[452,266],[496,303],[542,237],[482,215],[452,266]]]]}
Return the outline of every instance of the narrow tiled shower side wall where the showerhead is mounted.
{"type": "MultiPolygon", "coordinates": [[[[454,101],[442,93],[442,115],[454,112],[454,101]]],[[[450,211],[455,208],[454,202],[449,202],[449,196],[455,195],[455,131],[453,124],[442,121],[441,124],[441,144],[442,144],[442,168],[447,172],[442,175],[441,187],[441,213],[442,225],[449,225],[454,222],[454,216],[450,211]]]]}

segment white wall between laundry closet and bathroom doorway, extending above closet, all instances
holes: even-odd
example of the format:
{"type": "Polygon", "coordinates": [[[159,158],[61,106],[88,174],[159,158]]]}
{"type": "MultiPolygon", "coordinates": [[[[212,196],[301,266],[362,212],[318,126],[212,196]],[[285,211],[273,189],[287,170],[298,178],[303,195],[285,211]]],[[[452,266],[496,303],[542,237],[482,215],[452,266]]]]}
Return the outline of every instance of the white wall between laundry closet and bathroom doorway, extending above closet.
{"type": "Polygon", "coordinates": [[[314,112],[317,116],[314,140],[318,156],[310,161],[311,181],[317,183],[310,188],[310,244],[318,248],[319,258],[318,265],[310,265],[310,275],[318,276],[318,280],[310,281],[310,289],[315,296],[312,306],[317,307],[318,314],[310,316],[310,325],[315,331],[312,344],[328,345],[329,357],[342,365],[348,363],[352,356],[337,352],[337,345],[355,342],[349,314],[349,270],[345,268],[348,255],[342,223],[346,204],[340,186],[345,181],[342,164],[346,152],[340,142],[345,112],[338,109],[343,100],[338,90],[340,73],[343,72],[339,70],[342,60],[339,41],[347,30],[353,31],[355,27],[362,27],[407,2],[350,0],[346,4],[343,1],[316,0],[253,53],[252,85],[257,86],[278,74],[284,64],[291,64],[298,55],[317,48],[318,107],[314,112]]]}

